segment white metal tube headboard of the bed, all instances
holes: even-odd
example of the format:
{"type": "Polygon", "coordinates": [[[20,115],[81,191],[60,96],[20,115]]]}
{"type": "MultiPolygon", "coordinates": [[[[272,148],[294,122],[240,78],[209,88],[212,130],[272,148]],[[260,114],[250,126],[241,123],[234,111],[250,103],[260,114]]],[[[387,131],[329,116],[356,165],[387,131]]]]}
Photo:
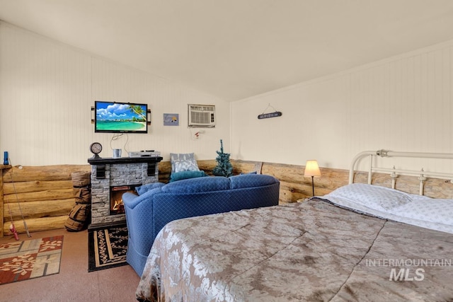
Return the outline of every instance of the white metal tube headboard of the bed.
{"type": "Polygon", "coordinates": [[[397,152],[397,151],[388,151],[388,150],[378,150],[378,151],[363,151],[358,153],[351,162],[349,170],[349,183],[354,182],[354,171],[357,161],[360,159],[369,156],[369,169],[368,169],[368,184],[371,185],[372,173],[390,173],[392,178],[391,187],[395,188],[396,177],[399,175],[418,175],[418,180],[420,180],[420,195],[423,195],[423,184],[427,177],[431,178],[442,178],[447,179],[453,183],[453,173],[436,173],[436,172],[425,172],[423,168],[419,171],[415,170],[403,170],[394,168],[377,168],[373,167],[374,156],[381,157],[413,157],[413,158],[446,158],[453,159],[453,153],[425,153],[425,152],[397,152]]]}

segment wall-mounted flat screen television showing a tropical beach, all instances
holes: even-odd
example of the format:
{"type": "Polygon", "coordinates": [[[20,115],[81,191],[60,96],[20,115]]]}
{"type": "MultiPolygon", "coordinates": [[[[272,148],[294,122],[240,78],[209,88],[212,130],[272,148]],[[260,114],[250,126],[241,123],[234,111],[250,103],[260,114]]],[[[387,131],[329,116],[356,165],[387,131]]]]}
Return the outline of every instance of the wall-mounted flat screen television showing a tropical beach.
{"type": "Polygon", "coordinates": [[[94,102],[94,132],[148,133],[148,105],[94,102]]]}

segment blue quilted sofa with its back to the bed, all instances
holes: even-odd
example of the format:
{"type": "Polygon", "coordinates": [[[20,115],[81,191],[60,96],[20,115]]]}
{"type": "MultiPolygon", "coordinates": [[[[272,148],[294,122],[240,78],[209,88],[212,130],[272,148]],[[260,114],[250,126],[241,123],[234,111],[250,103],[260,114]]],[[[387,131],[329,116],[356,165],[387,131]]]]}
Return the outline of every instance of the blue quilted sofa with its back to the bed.
{"type": "Polygon", "coordinates": [[[157,233],[166,223],[193,216],[278,204],[280,182],[270,175],[191,178],[144,185],[122,195],[129,233],[126,260],[142,276],[157,233]],[[146,191],[146,192],[144,192],[146,191]]]}

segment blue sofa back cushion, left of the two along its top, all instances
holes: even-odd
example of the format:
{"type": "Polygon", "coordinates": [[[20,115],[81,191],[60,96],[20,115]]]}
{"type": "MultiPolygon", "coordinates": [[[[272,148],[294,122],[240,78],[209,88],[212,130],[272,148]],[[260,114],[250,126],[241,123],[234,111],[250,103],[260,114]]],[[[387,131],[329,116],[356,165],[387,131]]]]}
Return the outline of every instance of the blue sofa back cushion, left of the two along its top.
{"type": "Polygon", "coordinates": [[[162,187],[162,192],[179,194],[229,190],[229,188],[230,181],[228,178],[223,176],[212,176],[170,182],[168,185],[162,187]]]}

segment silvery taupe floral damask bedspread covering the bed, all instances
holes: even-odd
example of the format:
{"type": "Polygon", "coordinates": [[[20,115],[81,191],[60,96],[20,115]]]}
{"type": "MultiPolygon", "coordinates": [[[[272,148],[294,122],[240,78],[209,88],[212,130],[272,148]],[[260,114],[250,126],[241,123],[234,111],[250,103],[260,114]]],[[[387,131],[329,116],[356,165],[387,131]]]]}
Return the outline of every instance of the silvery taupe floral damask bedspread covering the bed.
{"type": "Polygon", "coordinates": [[[453,301],[453,234],[322,199],[168,223],[139,301],[453,301]]]}

